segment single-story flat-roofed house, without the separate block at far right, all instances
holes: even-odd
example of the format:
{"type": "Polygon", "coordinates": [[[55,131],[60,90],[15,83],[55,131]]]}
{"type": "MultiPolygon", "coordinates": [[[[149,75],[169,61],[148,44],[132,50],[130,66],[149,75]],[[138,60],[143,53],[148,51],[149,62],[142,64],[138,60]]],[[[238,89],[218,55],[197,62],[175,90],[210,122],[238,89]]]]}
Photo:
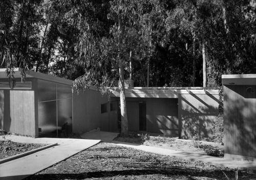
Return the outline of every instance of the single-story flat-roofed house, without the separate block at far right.
{"type": "MultiPolygon", "coordinates": [[[[119,91],[103,97],[96,88],[72,94],[72,81],[29,71],[10,90],[6,69],[0,69],[0,129],[31,137],[66,137],[100,127],[118,131],[119,91]]],[[[126,87],[129,130],[191,139],[212,138],[218,117],[217,88],[126,87]]]]}

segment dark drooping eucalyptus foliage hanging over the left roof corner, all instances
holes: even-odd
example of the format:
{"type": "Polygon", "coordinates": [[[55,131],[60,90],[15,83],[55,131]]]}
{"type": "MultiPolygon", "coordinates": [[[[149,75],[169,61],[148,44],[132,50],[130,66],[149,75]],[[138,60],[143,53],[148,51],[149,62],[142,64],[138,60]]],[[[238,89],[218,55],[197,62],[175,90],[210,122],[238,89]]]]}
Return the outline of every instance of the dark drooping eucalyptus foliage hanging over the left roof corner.
{"type": "Polygon", "coordinates": [[[10,87],[15,85],[13,68],[32,69],[38,56],[41,0],[0,2],[0,62],[7,68],[10,87]]]}

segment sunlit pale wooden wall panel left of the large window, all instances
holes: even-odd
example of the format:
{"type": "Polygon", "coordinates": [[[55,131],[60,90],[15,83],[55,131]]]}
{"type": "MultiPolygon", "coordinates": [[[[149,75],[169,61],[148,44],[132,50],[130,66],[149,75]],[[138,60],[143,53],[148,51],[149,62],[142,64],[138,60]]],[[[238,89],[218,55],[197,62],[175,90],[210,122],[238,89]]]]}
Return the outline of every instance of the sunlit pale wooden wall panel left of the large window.
{"type": "Polygon", "coordinates": [[[10,131],[35,137],[34,91],[10,91],[10,131]]]}

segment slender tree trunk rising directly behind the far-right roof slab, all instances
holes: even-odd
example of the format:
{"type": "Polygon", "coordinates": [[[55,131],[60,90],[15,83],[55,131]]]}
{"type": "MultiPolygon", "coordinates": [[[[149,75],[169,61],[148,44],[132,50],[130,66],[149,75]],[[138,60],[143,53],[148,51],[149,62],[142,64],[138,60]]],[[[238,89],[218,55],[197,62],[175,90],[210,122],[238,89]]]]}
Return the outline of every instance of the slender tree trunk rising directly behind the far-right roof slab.
{"type": "Polygon", "coordinates": [[[227,11],[226,7],[223,4],[222,8],[223,12],[223,22],[224,22],[224,28],[226,30],[226,57],[227,57],[227,74],[232,74],[233,73],[233,56],[232,56],[232,46],[230,44],[230,31],[227,23],[227,11]]]}

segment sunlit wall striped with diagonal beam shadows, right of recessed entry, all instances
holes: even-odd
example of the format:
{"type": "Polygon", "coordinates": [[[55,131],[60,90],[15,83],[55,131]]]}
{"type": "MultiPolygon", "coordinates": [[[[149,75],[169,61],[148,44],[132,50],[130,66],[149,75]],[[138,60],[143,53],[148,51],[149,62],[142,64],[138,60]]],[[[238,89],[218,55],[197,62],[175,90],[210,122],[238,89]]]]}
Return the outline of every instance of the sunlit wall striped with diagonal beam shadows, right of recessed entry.
{"type": "Polygon", "coordinates": [[[219,114],[219,96],[213,94],[179,94],[179,138],[212,139],[213,125],[219,114]]]}

